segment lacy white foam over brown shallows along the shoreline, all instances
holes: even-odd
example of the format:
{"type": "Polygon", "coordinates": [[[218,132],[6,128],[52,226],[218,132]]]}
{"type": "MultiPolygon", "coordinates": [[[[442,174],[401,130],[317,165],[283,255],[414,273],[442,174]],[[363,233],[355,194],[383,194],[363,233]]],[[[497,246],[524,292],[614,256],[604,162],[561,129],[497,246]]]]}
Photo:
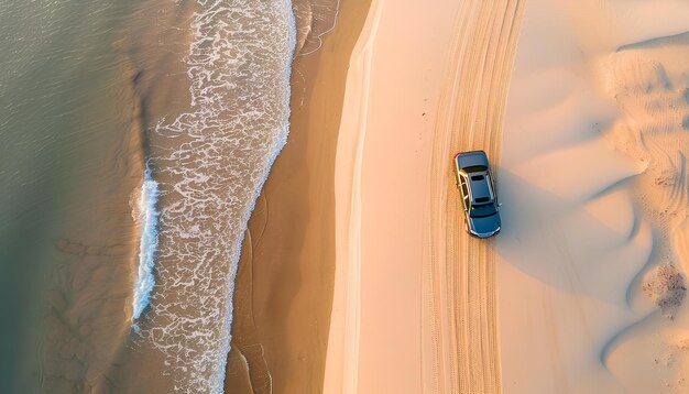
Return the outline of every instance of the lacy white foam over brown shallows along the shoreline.
{"type": "Polygon", "coordinates": [[[150,134],[164,204],[140,326],[176,391],[221,393],[242,238],[287,139],[296,28],[288,0],[198,0],[190,29],[189,108],[150,134]]]}

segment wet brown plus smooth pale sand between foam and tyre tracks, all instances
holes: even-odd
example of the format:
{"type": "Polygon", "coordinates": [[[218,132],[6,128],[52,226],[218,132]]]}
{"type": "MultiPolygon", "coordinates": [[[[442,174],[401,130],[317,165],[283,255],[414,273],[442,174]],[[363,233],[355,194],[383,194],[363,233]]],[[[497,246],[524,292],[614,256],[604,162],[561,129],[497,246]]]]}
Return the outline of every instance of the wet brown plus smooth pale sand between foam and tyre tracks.
{"type": "MultiPolygon", "coordinates": [[[[367,10],[342,2],[324,46],[295,62],[291,140],[253,212],[251,265],[242,260],[238,276],[234,342],[260,376],[249,379],[253,390],[422,391],[426,184],[459,10],[450,1],[367,10]],[[405,23],[433,28],[401,34],[405,23]],[[350,56],[343,44],[354,43],[350,56]],[[402,44],[423,54],[409,62],[402,44]],[[391,106],[391,95],[405,99],[391,106]]],[[[245,384],[247,362],[230,358],[228,382],[238,382],[226,387],[245,384]]]]}

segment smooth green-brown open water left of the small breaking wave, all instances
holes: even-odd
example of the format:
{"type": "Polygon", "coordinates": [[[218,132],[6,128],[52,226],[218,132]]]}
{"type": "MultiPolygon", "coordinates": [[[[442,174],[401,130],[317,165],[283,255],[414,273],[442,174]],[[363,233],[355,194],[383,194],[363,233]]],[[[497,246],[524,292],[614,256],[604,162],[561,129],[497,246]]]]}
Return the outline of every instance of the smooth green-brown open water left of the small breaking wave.
{"type": "MultiPolygon", "coordinates": [[[[87,295],[67,282],[89,255],[106,271],[128,269],[125,196],[141,177],[133,175],[140,149],[112,43],[129,10],[129,1],[0,3],[3,393],[59,392],[50,382],[77,374],[69,364],[83,364],[98,348],[79,344],[110,331],[90,322],[99,320],[96,304],[117,297],[106,302],[107,288],[87,295]]],[[[119,296],[109,318],[124,315],[122,303],[119,296]]]]}

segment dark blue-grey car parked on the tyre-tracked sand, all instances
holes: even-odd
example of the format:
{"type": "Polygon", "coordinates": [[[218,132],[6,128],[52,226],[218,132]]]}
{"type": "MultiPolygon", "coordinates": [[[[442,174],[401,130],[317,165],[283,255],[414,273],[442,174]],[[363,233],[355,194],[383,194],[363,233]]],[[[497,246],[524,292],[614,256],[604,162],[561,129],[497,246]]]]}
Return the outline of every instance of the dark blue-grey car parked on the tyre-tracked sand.
{"type": "Polygon", "coordinates": [[[453,162],[464,211],[464,229],[478,238],[497,234],[502,225],[500,204],[485,152],[460,152],[455,155],[453,162]]]}

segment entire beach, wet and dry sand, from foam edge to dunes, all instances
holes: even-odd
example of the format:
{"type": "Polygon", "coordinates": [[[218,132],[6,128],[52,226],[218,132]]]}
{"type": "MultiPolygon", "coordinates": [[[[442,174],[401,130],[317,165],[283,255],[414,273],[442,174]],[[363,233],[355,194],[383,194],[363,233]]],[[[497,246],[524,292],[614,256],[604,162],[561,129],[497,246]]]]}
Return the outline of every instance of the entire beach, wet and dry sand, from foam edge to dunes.
{"type": "Polygon", "coordinates": [[[340,6],[295,62],[226,388],[685,392],[687,6],[340,6]],[[463,232],[469,150],[494,240],[463,232]]]}

